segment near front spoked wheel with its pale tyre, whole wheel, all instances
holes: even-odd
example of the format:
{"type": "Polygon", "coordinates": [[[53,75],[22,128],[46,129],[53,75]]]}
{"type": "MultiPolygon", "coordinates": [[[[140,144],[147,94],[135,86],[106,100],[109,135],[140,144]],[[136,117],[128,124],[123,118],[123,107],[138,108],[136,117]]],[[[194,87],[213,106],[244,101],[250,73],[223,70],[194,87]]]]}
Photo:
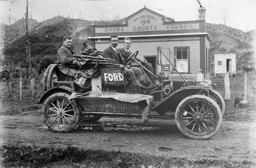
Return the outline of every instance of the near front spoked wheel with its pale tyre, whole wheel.
{"type": "Polygon", "coordinates": [[[204,95],[191,95],[183,99],[175,112],[180,131],[192,139],[208,139],[215,135],[222,123],[218,104],[204,95]]]}

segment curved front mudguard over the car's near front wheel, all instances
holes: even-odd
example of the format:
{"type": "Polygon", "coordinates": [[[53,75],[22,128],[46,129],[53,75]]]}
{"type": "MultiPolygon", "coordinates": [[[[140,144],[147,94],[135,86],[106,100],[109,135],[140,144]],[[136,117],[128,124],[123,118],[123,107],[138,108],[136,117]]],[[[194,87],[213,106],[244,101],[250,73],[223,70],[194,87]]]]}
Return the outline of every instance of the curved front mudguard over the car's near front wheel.
{"type": "Polygon", "coordinates": [[[157,102],[155,106],[150,108],[150,110],[175,111],[180,101],[184,98],[195,94],[205,94],[206,96],[208,96],[209,90],[212,90],[211,86],[188,86],[180,88],[172,92],[162,101],[157,102]]]}

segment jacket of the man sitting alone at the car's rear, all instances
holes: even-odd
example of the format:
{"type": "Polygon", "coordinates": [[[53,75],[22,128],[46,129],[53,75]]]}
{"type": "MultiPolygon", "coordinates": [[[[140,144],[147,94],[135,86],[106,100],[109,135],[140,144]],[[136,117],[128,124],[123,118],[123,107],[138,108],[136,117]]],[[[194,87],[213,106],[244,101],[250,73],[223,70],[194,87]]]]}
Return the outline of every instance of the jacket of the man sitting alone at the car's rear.
{"type": "Polygon", "coordinates": [[[69,50],[68,47],[63,44],[58,50],[57,61],[64,65],[70,65],[75,60],[73,57],[74,53],[74,51],[69,50]]]}

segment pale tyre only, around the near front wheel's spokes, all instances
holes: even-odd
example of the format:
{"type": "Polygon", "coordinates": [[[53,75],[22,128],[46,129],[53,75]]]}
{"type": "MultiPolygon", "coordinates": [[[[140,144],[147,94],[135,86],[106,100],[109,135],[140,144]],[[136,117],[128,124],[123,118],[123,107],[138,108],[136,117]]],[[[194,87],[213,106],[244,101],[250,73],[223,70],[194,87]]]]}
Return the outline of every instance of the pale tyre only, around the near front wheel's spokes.
{"type": "Polygon", "coordinates": [[[211,99],[207,96],[204,96],[204,95],[191,95],[191,96],[188,96],[185,99],[183,99],[177,106],[176,111],[175,111],[175,121],[176,121],[176,124],[177,124],[178,128],[180,129],[180,131],[184,135],[186,135],[188,138],[196,139],[196,140],[204,140],[204,139],[211,138],[213,135],[215,135],[218,132],[218,130],[220,129],[221,123],[222,123],[222,113],[221,113],[220,107],[213,99],[211,99]],[[209,104],[212,104],[213,109],[215,110],[215,112],[217,112],[217,115],[218,115],[217,116],[217,118],[218,118],[217,126],[214,127],[214,129],[206,135],[200,135],[200,136],[192,135],[185,128],[183,128],[180,123],[179,116],[180,116],[180,112],[181,112],[182,108],[184,106],[186,106],[187,103],[189,103],[190,101],[195,100],[195,99],[203,100],[203,101],[208,102],[209,104]]]}

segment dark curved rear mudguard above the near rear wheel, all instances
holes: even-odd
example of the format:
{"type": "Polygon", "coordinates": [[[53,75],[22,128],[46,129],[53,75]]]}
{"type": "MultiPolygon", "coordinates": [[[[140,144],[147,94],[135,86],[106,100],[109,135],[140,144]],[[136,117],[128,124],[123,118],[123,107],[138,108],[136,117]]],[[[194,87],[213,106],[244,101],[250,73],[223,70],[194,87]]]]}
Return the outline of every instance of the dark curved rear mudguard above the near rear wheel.
{"type": "Polygon", "coordinates": [[[44,91],[41,94],[40,98],[37,101],[37,104],[42,104],[44,102],[44,100],[47,99],[47,97],[49,97],[50,95],[52,95],[53,93],[56,93],[56,92],[65,92],[65,93],[72,94],[73,92],[76,92],[76,91],[74,91],[71,88],[66,87],[66,86],[54,86],[54,87],[44,91]]]}

